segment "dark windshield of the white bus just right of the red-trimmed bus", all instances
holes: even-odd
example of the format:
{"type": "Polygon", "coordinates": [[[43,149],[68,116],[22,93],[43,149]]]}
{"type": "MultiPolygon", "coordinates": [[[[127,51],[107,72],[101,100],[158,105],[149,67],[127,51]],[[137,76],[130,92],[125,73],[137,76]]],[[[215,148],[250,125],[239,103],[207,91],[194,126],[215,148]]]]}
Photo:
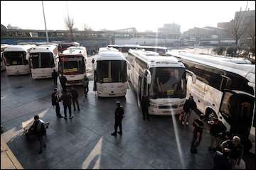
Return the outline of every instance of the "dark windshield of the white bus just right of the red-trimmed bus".
{"type": "Polygon", "coordinates": [[[97,82],[125,81],[127,81],[127,64],[125,61],[97,61],[97,82]]]}

